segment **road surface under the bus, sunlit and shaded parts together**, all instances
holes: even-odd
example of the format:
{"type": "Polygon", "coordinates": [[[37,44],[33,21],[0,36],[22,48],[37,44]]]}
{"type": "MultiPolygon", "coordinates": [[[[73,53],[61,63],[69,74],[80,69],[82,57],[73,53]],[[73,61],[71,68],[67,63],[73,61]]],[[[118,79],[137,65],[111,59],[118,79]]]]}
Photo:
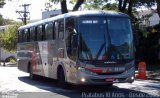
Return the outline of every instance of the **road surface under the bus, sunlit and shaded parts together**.
{"type": "Polygon", "coordinates": [[[136,80],[134,83],[107,86],[57,86],[55,80],[29,74],[16,67],[0,67],[0,98],[160,98],[160,82],[136,80]]]}

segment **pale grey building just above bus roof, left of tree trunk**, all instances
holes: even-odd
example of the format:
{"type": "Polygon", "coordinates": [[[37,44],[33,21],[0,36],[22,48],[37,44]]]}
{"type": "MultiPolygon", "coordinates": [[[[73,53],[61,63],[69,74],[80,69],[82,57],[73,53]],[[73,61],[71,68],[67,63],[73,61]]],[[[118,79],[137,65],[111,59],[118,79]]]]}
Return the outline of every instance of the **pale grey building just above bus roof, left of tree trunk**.
{"type": "Polygon", "coordinates": [[[56,15],[61,14],[61,10],[51,10],[51,11],[43,11],[42,12],[42,19],[54,17],[56,15]]]}

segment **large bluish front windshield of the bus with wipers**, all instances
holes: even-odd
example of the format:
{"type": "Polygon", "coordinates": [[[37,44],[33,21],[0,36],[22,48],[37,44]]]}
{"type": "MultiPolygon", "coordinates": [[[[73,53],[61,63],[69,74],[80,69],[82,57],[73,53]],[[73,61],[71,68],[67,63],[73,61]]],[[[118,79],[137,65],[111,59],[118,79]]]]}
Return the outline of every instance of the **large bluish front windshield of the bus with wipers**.
{"type": "Polygon", "coordinates": [[[79,59],[121,60],[133,58],[128,18],[84,17],[79,19],[79,59]]]}

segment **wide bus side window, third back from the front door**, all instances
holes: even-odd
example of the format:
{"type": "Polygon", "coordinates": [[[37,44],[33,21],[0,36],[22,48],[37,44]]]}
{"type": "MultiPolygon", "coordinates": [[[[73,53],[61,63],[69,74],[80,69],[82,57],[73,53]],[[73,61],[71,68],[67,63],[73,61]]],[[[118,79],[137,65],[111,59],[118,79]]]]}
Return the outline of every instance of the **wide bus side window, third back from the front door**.
{"type": "Polygon", "coordinates": [[[45,25],[45,33],[46,33],[46,39],[47,40],[53,40],[53,23],[49,23],[45,25]]]}

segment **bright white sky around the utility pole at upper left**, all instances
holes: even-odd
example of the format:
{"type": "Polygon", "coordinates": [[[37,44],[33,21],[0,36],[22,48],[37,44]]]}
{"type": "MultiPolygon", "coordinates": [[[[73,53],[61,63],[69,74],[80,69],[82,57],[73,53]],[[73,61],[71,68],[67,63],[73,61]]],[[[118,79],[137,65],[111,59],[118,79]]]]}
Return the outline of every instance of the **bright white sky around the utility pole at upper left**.
{"type": "Polygon", "coordinates": [[[30,20],[41,19],[46,1],[47,0],[6,0],[6,4],[0,9],[0,13],[6,19],[17,20],[19,14],[16,13],[16,10],[23,10],[23,7],[20,7],[20,5],[31,4],[28,9],[30,11],[30,20]]]}

